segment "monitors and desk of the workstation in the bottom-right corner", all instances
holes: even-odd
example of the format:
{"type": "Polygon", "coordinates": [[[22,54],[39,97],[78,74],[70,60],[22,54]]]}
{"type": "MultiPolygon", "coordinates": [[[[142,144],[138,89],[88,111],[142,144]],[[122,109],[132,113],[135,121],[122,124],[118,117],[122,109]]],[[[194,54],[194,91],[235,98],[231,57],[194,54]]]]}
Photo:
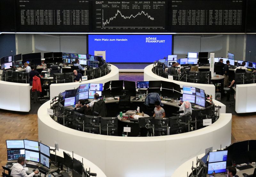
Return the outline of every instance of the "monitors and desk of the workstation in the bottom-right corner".
{"type": "MultiPolygon", "coordinates": [[[[225,175],[228,166],[236,168],[236,175],[254,177],[256,175],[256,140],[246,140],[234,143],[223,150],[206,152],[204,157],[198,159],[196,166],[192,166],[189,176],[206,177],[218,173],[225,175]],[[253,174],[252,174],[253,173],[253,174]]],[[[233,176],[235,174],[233,173],[233,176]]]]}

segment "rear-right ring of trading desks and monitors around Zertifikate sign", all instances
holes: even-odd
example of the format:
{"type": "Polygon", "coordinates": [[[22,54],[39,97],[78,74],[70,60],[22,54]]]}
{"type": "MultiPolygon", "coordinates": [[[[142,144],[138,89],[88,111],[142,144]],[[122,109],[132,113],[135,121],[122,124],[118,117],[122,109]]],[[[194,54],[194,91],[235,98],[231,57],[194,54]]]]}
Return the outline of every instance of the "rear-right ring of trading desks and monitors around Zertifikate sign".
{"type": "MultiPolygon", "coordinates": [[[[245,62],[245,67],[248,68],[247,72],[241,72],[235,74],[236,84],[245,84],[245,83],[255,83],[256,77],[255,72],[248,72],[255,70],[256,63],[250,61],[242,61],[242,60],[235,60],[235,55],[232,53],[228,53],[228,58],[214,58],[214,72],[216,74],[223,75],[223,66],[226,64],[226,61],[229,60],[231,69],[236,68],[236,66],[241,66],[243,62],[245,62]],[[223,63],[220,64],[220,59],[222,59],[223,63]]],[[[167,59],[160,59],[154,62],[153,72],[159,76],[168,78],[169,75],[173,76],[173,80],[177,81],[185,81],[185,82],[192,82],[192,83],[204,83],[204,84],[211,84],[211,72],[210,71],[188,71],[185,68],[190,69],[193,66],[210,66],[210,59],[208,58],[208,52],[199,52],[198,55],[195,52],[188,52],[188,58],[181,58],[177,60],[177,55],[168,55],[167,59]],[[172,67],[172,63],[179,63],[179,65],[175,65],[175,69],[178,71],[177,74],[170,74],[165,73],[164,69],[166,67],[172,67]]],[[[232,80],[231,80],[232,81],[232,80]]]]}

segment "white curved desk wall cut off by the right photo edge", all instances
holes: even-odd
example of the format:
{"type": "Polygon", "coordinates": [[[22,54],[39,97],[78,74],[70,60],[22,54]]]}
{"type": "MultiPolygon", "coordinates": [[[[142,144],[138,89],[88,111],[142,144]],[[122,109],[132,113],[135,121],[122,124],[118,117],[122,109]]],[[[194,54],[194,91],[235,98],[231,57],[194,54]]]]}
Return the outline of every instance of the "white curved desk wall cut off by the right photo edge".
{"type": "Polygon", "coordinates": [[[236,113],[256,112],[256,83],[236,85],[236,113]]]}

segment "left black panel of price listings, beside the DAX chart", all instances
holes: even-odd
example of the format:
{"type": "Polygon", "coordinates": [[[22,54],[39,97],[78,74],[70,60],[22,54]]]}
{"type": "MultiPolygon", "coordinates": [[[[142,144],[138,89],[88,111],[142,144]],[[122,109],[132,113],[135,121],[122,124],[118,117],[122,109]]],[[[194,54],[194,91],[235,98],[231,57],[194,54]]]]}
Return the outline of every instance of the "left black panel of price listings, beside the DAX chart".
{"type": "Polygon", "coordinates": [[[89,30],[89,1],[16,1],[19,32],[85,32],[89,30]]]}

